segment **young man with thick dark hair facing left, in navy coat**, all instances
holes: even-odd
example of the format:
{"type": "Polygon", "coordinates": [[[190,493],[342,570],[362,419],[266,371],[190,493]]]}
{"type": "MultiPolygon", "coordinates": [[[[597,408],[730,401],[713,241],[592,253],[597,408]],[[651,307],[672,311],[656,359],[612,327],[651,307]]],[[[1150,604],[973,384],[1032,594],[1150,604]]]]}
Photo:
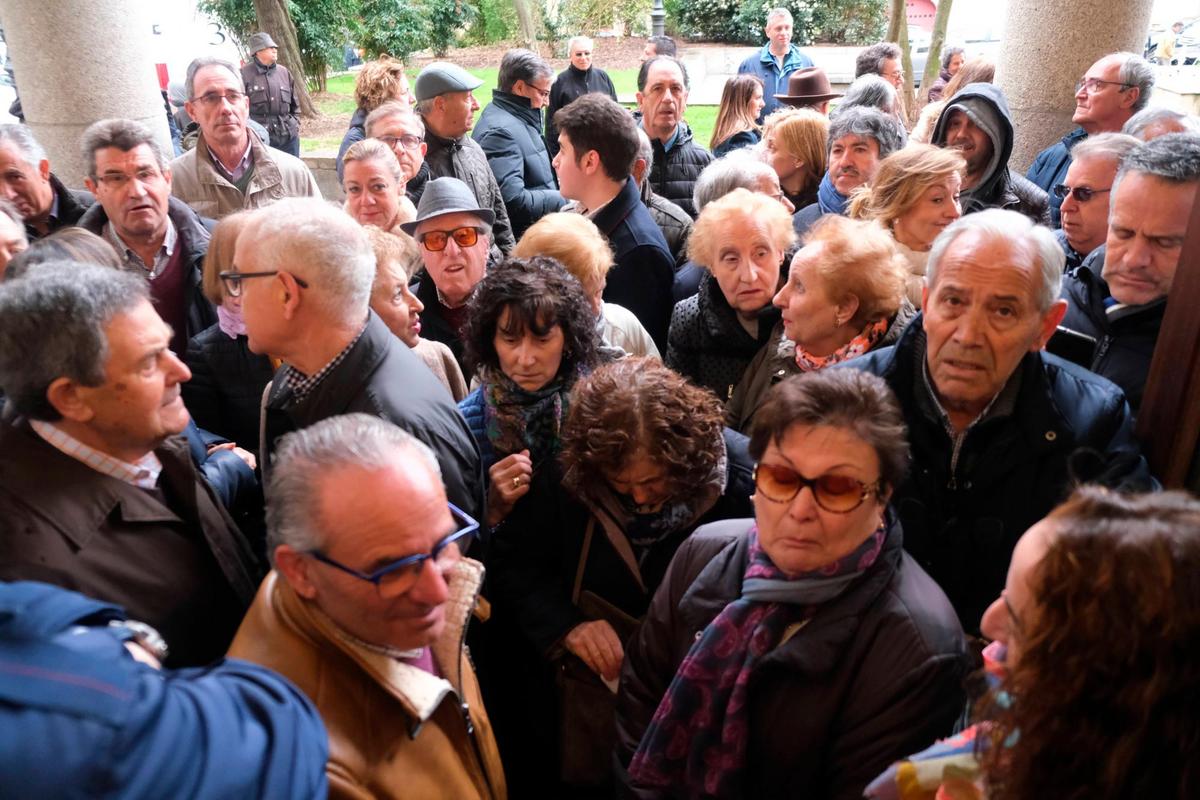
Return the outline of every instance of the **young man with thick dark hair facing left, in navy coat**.
{"type": "Polygon", "coordinates": [[[575,200],[612,245],[616,264],[604,299],[634,312],[665,351],[674,259],[630,175],[638,146],[634,119],[593,94],[559,112],[556,124],[562,148],[554,172],[563,197],[575,200]]]}

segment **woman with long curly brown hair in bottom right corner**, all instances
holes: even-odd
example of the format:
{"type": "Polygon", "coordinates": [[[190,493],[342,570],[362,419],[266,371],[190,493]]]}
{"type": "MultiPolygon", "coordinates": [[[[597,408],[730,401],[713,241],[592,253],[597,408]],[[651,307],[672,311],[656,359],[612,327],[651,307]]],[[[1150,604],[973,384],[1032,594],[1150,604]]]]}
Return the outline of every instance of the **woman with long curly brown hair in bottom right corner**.
{"type": "Polygon", "coordinates": [[[868,796],[1200,796],[1200,501],[1078,489],[1016,543],[980,627],[980,722],[868,796]]]}

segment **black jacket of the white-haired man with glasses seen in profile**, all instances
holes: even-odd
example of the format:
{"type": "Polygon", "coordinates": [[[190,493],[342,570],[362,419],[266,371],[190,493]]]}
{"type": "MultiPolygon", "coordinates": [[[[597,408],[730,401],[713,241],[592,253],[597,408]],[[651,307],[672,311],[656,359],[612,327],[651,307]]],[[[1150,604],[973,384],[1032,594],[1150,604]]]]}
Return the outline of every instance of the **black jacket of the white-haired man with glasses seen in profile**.
{"type": "Polygon", "coordinates": [[[484,475],[479,447],[446,387],[374,312],[341,363],[300,402],[276,380],[266,401],[266,437],[260,463],[264,480],[280,437],[330,416],[371,414],[404,428],[427,444],[442,467],[450,503],[480,519],[484,475]]]}

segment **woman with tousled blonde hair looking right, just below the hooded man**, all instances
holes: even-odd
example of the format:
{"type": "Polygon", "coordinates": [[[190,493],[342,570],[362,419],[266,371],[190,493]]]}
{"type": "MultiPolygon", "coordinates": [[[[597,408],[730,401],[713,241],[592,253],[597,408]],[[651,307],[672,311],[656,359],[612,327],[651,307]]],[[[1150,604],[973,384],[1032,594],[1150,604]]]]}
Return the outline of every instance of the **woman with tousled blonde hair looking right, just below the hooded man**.
{"type": "Polygon", "coordinates": [[[934,240],[960,216],[966,161],[955,150],[914,144],[880,162],[869,186],[856,190],[850,216],[889,230],[908,266],[906,294],[920,308],[925,265],[934,240]]]}

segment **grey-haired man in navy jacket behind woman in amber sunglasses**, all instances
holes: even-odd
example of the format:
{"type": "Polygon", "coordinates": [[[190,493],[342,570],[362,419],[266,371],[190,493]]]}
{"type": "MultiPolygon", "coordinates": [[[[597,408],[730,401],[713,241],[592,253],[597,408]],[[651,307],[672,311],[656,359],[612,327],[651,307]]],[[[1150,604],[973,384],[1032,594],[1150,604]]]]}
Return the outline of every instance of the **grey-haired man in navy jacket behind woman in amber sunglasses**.
{"type": "Polygon", "coordinates": [[[978,632],[1018,539],[1076,482],[1157,487],[1114,384],[1043,351],[1062,320],[1063,255],[1012,211],[947,228],[923,314],[900,341],[850,361],[895,391],[912,447],[892,504],[905,549],[978,632]]]}

